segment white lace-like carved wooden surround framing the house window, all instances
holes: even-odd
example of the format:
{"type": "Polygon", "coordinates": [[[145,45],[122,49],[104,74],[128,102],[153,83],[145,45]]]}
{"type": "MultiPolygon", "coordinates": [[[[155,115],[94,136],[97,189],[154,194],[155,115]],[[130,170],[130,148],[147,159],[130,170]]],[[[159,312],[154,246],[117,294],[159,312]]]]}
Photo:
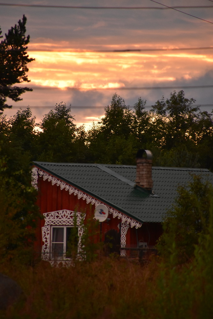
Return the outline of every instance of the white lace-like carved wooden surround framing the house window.
{"type": "Polygon", "coordinates": [[[50,245],[51,245],[51,226],[74,226],[74,222],[78,226],[78,255],[80,255],[80,252],[82,252],[82,245],[81,245],[81,237],[83,234],[83,227],[81,226],[85,214],[74,212],[74,211],[68,211],[68,210],[60,210],[60,211],[51,211],[48,213],[44,213],[45,218],[45,224],[42,227],[42,241],[44,242],[41,250],[41,259],[50,261],[52,265],[62,263],[62,265],[70,265],[70,261],[63,261],[63,260],[57,260],[57,261],[51,261],[50,258],[50,245]],[[76,218],[76,221],[74,220],[76,218]]]}

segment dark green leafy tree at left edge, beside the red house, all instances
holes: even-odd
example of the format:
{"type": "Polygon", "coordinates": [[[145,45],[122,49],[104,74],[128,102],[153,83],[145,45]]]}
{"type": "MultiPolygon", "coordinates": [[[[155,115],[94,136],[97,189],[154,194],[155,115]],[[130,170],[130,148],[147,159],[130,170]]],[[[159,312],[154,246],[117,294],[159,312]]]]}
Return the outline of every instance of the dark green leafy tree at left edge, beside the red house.
{"type": "Polygon", "coordinates": [[[34,122],[29,108],[0,114],[0,260],[30,262],[39,218],[31,186],[34,122]]]}

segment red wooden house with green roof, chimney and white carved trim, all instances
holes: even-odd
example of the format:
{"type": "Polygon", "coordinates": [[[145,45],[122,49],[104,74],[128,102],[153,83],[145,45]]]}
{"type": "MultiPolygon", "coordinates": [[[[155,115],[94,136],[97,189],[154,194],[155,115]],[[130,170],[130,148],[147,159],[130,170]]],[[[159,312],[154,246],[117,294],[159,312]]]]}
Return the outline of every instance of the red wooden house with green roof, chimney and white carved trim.
{"type": "Polygon", "coordinates": [[[162,233],[164,213],[177,196],[177,186],[189,182],[191,174],[202,174],[213,183],[207,169],[152,167],[152,154],[147,150],[138,151],[136,166],[34,162],[32,183],[44,216],[37,241],[42,259],[51,263],[70,260],[66,250],[74,216],[79,249],[82,221],[86,223],[94,214],[103,220],[100,240],[107,241],[107,234],[117,239],[121,256],[153,247],[162,233]]]}

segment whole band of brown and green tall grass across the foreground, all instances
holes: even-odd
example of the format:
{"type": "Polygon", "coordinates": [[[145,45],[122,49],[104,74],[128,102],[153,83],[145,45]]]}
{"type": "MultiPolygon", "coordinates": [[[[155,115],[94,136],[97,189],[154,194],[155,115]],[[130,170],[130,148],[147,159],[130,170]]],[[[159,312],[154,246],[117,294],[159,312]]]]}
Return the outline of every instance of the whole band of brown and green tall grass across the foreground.
{"type": "Polygon", "coordinates": [[[210,319],[212,265],[206,269],[201,255],[181,267],[170,267],[156,256],[143,266],[116,256],[99,256],[70,268],[48,262],[4,265],[0,271],[18,282],[24,296],[0,317],[210,319]]]}

